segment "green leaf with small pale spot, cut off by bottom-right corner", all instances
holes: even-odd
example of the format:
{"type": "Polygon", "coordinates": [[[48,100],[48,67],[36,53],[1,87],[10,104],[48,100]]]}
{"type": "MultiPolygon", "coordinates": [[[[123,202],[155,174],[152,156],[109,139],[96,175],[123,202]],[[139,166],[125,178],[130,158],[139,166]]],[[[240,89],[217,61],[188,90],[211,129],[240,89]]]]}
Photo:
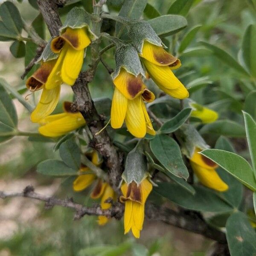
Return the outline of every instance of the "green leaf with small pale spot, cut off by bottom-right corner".
{"type": "Polygon", "coordinates": [[[242,212],[234,212],[227,220],[227,243],[231,256],[255,256],[256,233],[242,212]]]}

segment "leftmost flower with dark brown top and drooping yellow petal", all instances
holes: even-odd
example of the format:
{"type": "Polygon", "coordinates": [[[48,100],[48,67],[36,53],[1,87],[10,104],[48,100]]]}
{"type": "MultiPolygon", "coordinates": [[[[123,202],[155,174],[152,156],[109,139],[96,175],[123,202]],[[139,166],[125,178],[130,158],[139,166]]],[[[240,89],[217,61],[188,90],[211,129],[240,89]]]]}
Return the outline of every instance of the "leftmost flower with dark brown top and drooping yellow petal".
{"type": "Polygon", "coordinates": [[[43,89],[40,101],[35,110],[31,113],[30,119],[32,122],[39,122],[41,119],[51,114],[58,103],[61,84],[57,83],[56,86],[50,90],[45,87],[55,64],[56,60],[43,62],[41,67],[26,81],[26,87],[33,92],[43,89]]]}

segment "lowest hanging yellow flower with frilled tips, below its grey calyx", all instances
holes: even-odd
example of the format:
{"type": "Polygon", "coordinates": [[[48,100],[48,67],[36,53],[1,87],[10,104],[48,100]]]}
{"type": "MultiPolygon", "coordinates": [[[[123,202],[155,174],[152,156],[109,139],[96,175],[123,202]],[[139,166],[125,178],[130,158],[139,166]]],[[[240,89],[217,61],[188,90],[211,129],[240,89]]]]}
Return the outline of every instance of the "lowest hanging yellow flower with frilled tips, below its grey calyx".
{"type": "Polygon", "coordinates": [[[152,190],[152,184],[147,178],[140,184],[132,181],[121,187],[123,196],[120,201],[125,203],[124,227],[125,234],[130,230],[136,238],[140,238],[143,228],[145,201],[152,190]]]}

